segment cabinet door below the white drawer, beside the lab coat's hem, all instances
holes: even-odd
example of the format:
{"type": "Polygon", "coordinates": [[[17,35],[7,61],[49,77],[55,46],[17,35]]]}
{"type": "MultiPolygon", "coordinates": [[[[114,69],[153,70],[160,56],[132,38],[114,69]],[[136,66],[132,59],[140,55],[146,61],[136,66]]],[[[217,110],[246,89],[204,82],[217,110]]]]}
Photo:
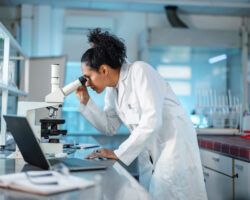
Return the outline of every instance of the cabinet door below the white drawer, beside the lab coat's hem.
{"type": "Polygon", "coordinates": [[[203,168],[208,200],[233,199],[233,179],[208,168],[203,168]]]}

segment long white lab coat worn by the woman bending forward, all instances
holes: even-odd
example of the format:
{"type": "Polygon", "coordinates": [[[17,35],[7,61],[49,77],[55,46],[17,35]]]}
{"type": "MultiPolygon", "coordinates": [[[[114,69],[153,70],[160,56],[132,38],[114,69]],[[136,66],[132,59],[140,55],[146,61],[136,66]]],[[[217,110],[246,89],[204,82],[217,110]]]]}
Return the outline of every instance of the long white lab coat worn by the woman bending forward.
{"type": "Polygon", "coordinates": [[[158,200],[207,199],[192,123],[170,86],[147,63],[124,64],[116,88],[107,88],[104,110],[90,99],[80,112],[101,132],[130,136],[114,151],[126,165],[136,157],[140,183],[158,200]]]}

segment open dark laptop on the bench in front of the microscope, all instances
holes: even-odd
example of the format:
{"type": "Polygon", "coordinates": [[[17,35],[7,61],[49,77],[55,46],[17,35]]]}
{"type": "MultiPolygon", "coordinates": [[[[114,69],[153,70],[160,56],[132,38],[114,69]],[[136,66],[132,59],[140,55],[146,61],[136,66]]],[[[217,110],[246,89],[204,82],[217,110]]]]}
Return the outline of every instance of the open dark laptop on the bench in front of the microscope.
{"type": "Polygon", "coordinates": [[[70,171],[100,170],[107,168],[107,166],[95,160],[82,160],[77,158],[47,159],[27,118],[15,115],[4,115],[3,117],[7,123],[8,130],[16,141],[23,159],[31,165],[48,170],[51,169],[53,165],[63,163],[70,171]]]}

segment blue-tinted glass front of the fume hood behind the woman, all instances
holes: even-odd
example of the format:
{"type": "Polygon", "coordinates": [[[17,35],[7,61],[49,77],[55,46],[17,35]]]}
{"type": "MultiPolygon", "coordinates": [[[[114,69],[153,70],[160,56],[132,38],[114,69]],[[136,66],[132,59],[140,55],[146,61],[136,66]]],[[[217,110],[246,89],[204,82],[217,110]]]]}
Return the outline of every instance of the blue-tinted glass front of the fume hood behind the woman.
{"type": "MultiPolygon", "coordinates": [[[[239,49],[152,47],[149,49],[149,62],[170,83],[190,115],[197,112],[199,92],[204,96],[205,93],[207,95],[209,91],[213,91],[218,98],[226,99],[230,90],[241,101],[242,69],[239,49]]],[[[205,97],[205,101],[207,99],[205,97]]],[[[217,105],[222,104],[220,101],[218,100],[217,105]]]]}

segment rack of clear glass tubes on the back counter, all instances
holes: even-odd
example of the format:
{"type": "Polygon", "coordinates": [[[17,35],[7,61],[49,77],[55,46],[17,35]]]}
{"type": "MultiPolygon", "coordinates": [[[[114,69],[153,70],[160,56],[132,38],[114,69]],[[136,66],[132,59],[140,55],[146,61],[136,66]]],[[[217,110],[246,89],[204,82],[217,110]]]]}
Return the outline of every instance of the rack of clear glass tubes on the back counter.
{"type": "Polygon", "coordinates": [[[196,95],[196,111],[199,116],[198,133],[239,133],[241,104],[239,97],[218,94],[215,90],[198,91],[196,95]]]}

